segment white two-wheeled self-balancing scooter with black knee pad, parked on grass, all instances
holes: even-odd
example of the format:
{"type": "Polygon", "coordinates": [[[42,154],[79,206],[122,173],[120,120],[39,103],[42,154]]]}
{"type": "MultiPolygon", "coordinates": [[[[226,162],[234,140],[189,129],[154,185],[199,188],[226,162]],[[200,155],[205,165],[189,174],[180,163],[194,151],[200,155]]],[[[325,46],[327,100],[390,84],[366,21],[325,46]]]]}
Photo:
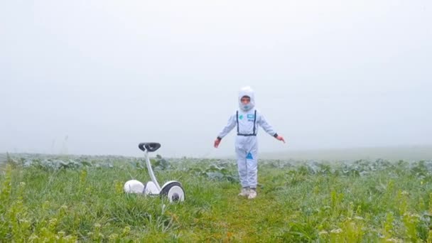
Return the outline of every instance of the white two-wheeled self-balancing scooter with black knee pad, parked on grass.
{"type": "Polygon", "coordinates": [[[156,177],[154,176],[153,169],[151,168],[150,158],[148,158],[148,152],[156,151],[161,147],[161,144],[156,143],[141,143],[139,144],[139,148],[144,151],[144,156],[146,158],[146,166],[148,170],[148,174],[150,175],[151,181],[148,181],[144,188],[142,188],[142,183],[138,180],[128,180],[124,185],[124,190],[126,193],[138,193],[141,190],[141,193],[144,195],[161,195],[168,197],[170,202],[183,202],[185,200],[185,190],[181,183],[175,180],[170,180],[165,184],[159,186],[156,177]]]}

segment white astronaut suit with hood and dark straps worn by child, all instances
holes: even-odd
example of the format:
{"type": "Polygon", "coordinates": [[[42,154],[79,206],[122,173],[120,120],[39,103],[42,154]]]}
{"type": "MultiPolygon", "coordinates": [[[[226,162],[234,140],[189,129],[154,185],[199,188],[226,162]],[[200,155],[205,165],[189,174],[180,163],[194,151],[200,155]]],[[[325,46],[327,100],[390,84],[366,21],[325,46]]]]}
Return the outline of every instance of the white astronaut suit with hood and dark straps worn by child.
{"type": "Polygon", "coordinates": [[[264,116],[255,107],[254,91],[250,87],[244,87],[239,92],[239,110],[229,117],[218,139],[229,134],[229,131],[237,126],[237,138],[235,141],[235,152],[237,153],[237,166],[239,169],[240,183],[243,188],[257,188],[257,162],[258,141],[257,134],[259,126],[271,136],[277,137],[276,131],[267,123],[264,116]],[[242,97],[249,96],[249,104],[242,104],[242,97]]]}

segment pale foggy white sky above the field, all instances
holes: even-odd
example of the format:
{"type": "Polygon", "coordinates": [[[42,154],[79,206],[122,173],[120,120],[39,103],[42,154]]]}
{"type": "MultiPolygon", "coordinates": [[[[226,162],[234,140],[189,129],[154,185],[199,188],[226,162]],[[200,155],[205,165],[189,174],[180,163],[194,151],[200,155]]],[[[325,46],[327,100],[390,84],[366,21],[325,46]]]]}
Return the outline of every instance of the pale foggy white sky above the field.
{"type": "Polygon", "coordinates": [[[1,1],[0,153],[212,148],[237,92],[287,144],[432,144],[432,2],[1,1]]]}

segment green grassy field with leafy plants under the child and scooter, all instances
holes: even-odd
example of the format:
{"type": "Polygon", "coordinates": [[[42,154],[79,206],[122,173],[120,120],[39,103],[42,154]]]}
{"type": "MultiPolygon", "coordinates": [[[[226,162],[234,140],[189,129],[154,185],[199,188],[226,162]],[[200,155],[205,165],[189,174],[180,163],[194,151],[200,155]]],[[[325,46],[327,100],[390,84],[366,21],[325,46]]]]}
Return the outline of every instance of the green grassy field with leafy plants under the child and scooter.
{"type": "Polygon", "coordinates": [[[126,180],[149,180],[131,163],[9,163],[0,242],[431,242],[430,165],[260,161],[258,197],[247,200],[234,163],[185,159],[156,171],[159,183],[183,183],[185,202],[170,204],[123,192],[126,180]],[[230,176],[207,176],[214,163],[230,176]]]}

